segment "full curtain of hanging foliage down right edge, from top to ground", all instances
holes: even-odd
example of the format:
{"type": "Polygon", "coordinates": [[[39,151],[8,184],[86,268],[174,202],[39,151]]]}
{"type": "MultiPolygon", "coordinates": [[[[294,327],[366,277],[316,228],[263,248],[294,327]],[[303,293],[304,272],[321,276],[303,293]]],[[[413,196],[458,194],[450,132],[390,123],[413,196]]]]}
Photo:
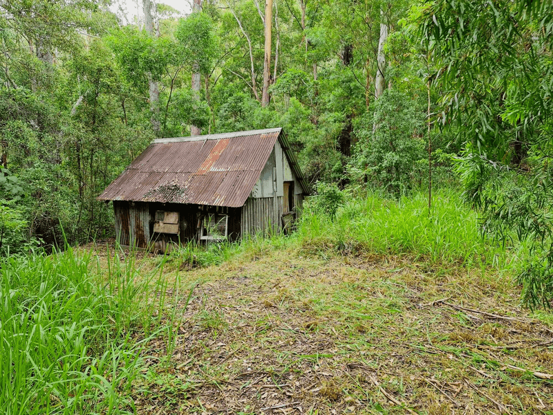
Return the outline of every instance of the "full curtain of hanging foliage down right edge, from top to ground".
{"type": "Polygon", "coordinates": [[[442,121],[467,143],[456,167],[465,194],[485,232],[529,243],[523,301],[550,306],[553,4],[438,0],[417,13],[442,68],[442,121]]]}

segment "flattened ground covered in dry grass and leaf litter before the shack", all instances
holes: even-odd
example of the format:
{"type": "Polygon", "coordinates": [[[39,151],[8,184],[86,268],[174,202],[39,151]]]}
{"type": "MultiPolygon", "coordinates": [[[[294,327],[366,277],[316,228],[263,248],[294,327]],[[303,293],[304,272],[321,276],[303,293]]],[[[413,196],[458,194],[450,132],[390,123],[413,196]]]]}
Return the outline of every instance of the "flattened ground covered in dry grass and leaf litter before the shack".
{"type": "Polygon", "coordinates": [[[139,414],[553,414],[553,317],[508,275],[301,250],[185,268],[139,414]]]}

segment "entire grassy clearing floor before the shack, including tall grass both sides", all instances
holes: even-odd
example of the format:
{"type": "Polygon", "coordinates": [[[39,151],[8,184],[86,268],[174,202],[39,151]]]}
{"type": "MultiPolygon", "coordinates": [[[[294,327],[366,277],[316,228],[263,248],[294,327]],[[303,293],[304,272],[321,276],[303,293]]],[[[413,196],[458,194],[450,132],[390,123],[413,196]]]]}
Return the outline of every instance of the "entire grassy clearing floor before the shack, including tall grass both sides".
{"type": "Polygon", "coordinates": [[[165,257],[6,259],[1,409],[553,414],[553,317],[512,283],[525,247],[435,200],[350,198],[289,237],[165,257]]]}

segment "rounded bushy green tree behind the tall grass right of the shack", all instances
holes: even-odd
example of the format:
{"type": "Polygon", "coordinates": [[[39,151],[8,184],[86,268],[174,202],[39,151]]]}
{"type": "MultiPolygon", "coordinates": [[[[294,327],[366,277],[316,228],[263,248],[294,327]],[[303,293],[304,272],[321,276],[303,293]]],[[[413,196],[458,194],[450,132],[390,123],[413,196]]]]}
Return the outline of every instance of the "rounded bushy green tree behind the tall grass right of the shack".
{"type": "Polygon", "coordinates": [[[415,163],[424,158],[424,113],[397,91],[386,91],[373,105],[373,113],[356,122],[359,142],[350,171],[398,194],[411,186],[415,163]]]}

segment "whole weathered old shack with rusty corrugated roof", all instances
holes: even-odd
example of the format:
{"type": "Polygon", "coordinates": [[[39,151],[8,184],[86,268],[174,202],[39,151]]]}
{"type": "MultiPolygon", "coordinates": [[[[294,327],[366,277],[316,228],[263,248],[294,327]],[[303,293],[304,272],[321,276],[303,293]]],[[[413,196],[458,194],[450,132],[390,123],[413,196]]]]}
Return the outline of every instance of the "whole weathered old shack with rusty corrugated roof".
{"type": "Polygon", "coordinates": [[[122,246],[280,232],[309,192],[281,128],[153,140],[98,196],[122,246]]]}

